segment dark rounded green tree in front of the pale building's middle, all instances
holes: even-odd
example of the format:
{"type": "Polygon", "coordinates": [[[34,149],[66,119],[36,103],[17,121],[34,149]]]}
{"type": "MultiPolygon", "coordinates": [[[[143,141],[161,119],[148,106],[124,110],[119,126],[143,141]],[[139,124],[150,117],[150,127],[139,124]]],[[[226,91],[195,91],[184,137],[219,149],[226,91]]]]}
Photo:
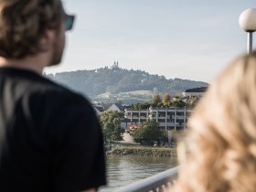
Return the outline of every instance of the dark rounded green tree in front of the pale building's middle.
{"type": "Polygon", "coordinates": [[[139,127],[133,131],[133,140],[137,143],[154,144],[163,137],[163,133],[155,121],[141,123],[139,127]]]}

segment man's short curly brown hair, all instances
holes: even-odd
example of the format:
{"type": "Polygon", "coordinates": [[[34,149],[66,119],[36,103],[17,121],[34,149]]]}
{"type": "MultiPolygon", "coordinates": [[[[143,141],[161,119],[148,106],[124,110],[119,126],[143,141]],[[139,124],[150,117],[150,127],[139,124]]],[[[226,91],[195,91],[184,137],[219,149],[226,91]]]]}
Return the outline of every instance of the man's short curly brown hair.
{"type": "Polygon", "coordinates": [[[59,30],[64,11],[60,0],[0,0],[0,56],[21,59],[43,51],[46,29],[59,30]]]}

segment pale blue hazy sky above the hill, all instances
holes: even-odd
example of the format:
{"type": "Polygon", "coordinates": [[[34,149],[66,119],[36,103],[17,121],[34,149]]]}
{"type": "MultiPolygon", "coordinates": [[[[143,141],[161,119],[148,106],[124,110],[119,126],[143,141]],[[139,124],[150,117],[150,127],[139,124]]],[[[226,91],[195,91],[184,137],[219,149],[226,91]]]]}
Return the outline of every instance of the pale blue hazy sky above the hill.
{"type": "Polygon", "coordinates": [[[256,6],[256,0],[62,2],[76,21],[61,63],[46,73],[110,68],[118,61],[123,69],[209,83],[246,54],[239,17],[256,6]]]}

